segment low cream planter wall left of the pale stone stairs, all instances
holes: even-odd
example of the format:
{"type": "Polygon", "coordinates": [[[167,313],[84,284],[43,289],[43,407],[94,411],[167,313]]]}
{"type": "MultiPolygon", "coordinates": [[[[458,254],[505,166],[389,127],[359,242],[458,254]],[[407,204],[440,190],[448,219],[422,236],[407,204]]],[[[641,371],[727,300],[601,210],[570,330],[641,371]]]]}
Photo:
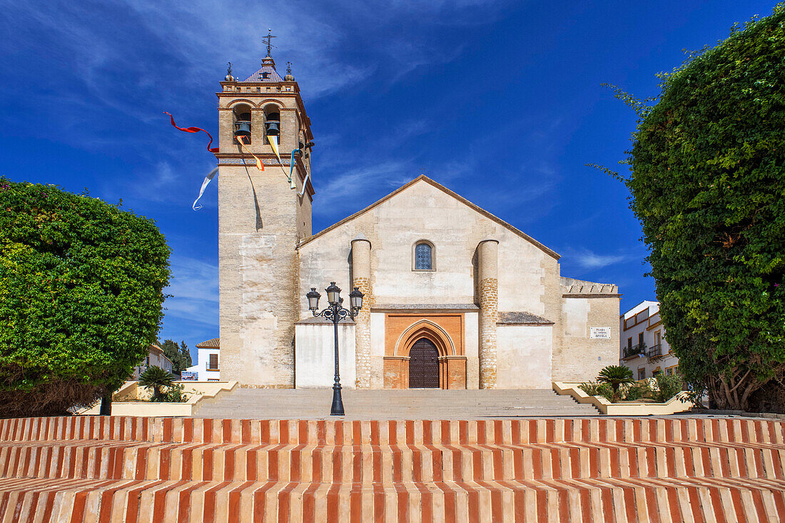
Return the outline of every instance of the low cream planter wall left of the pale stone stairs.
{"type": "MultiPolygon", "coordinates": [[[[219,397],[225,392],[231,392],[238,386],[237,382],[175,382],[184,386],[184,393],[190,395],[184,403],[166,403],[162,401],[149,401],[152,390],[149,387],[139,386],[139,382],[125,382],[112,395],[118,398],[111,402],[111,415],[113,416],[191,416],[196,411],[199,401],[219,397]]],[[[79,415],[97,415],[100,412],[100,403],[91,408],[79,411],[79,415]]]]}

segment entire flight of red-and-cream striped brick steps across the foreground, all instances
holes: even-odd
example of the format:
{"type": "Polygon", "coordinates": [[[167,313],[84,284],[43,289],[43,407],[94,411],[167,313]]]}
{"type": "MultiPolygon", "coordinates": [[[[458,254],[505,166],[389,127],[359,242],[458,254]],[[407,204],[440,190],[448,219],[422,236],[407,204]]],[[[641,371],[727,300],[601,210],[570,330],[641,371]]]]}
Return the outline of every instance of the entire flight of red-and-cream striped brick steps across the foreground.
{"type": "Polygon", "coordinates": [[[758,419],[0,420],[0,521],[780,521],[758,419]]]}

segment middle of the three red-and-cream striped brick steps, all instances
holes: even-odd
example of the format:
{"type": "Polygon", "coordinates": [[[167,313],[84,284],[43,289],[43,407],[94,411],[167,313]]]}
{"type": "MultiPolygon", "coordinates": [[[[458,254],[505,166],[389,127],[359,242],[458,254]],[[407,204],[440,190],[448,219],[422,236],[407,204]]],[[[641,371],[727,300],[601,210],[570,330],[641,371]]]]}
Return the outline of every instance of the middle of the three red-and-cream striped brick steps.
{"type": "Polygon", "coordinates": [[[475,481],[597,477],[785,479],[785,447],[753,444],[0,445],[0,477],[194,481],[475,481]]]}

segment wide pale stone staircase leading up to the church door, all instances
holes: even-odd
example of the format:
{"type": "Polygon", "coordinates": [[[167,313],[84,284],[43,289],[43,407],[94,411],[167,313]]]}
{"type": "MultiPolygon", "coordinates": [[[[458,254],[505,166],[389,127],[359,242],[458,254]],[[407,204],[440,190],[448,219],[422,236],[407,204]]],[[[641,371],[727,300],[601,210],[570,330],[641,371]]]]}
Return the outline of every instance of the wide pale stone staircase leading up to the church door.
{"type": "MultiPolygon", "coordinates": [[[[550,389],[342,391],[345,419],[485,419],[599,415],[592,405],[550,389]]],[[[199,402],[200,418],[330,418],[332,389],[235,389],[199,402]]]]}

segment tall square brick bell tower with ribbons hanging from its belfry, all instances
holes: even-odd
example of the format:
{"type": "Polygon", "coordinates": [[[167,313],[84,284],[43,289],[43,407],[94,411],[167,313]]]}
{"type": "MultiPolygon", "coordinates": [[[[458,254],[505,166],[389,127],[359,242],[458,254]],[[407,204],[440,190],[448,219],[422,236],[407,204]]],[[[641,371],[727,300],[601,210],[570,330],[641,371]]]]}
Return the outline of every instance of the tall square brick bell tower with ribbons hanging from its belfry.
{"type": "Polygon", "coordinates": [[[229,64],[217,93],[219,367],[221,379],[287,388],[301,300],[296,247],[311,236],[313,137],[290,67],[283,78],[276,70],[272,38],[261,68],[241,81],[229,64]]]}

